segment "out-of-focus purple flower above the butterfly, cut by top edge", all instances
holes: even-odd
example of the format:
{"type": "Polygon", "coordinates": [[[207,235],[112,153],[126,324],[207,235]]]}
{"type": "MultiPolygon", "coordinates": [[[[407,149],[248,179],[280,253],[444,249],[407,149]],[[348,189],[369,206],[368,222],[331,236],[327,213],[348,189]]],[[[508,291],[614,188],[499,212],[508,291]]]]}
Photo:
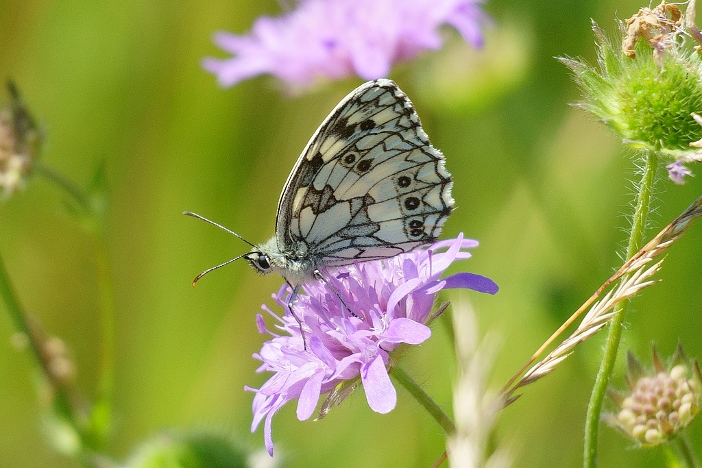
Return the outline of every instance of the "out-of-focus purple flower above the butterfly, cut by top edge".
{"type": "Polygon", "coordinates": [[[439,27],[482,46],[482,0],[300,0],[277,18],[261,16],[249,34],[219,32],[214,41],[232,58],[205,58],[221,86],[272,74],[294,86],[356,74],[388,76],[394,62],[442,46],[439,27]]]}

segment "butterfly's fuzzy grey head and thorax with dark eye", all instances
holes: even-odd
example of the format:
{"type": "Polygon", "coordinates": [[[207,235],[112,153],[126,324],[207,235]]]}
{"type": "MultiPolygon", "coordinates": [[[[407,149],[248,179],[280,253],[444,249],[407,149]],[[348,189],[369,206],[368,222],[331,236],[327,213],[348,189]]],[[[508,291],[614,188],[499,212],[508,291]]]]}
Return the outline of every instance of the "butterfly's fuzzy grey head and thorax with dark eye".
{"type": "Polygon", "coordinates": [[[319,269],[315,261],[319,257],[310,251],[305,241],[293,242],[290,248],[281,250],[275,236],[253,248],[245,258],[256,271],[279,273],[293,284],[314,278],[314,270],[319,269]]]}

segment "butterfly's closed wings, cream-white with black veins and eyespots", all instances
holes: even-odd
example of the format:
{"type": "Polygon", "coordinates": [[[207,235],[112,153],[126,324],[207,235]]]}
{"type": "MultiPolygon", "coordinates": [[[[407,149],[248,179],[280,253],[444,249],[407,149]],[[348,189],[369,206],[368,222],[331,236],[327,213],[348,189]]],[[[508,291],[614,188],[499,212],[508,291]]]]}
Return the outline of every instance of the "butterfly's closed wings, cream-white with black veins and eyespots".
{"type": "Polygon", "coordinates": [[[278,203],[278,247],[303,246],[323,266],[412,250],[439,235],[452,185],[409,98],[393,81],[369,81],[300,154],[278,203]]]}

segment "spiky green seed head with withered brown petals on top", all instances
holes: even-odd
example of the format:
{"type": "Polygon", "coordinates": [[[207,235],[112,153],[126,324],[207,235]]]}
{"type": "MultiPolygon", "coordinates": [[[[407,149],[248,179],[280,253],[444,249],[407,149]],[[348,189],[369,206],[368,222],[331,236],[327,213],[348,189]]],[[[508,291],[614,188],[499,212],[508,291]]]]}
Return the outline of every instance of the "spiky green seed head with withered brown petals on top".
{"type": "Polygon", "coordinates": [[[677,183],[689,174],[684,162],[702,161],[702,60],[694,25],[694,1],[686,17],[665,0],[641,8],[609,39],[592,23],[597,64],[560,59],[580,83],[580,107],[592,112],[635,149],[654,151],[678,164],[669,168],[677,183]]]}

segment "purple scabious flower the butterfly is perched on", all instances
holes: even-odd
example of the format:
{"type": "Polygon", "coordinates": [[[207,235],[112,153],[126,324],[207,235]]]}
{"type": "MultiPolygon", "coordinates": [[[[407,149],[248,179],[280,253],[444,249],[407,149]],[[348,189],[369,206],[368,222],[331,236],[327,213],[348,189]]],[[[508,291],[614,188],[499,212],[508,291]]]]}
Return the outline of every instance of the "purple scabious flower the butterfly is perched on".
{"type": "Polygon", "coordinates": [[[459,234],[430,248],[340,267],[327,272],[324,282],[305,284],[294,307],[303,321],[306,350],[300,326],[286,307],[291,291],[283,285],[272,297],[286,309],[285,314],[278,316],[262,307],[278,321],[278,331],[267,329],[263,316],[256,316],[260,333],[272,335],[253,355],[263,361],[257,372],[269,370],[274,375],[260,389],[246,387],[256,392],[251,432],[265,417],[268,453],[273,453],[272,417],[292,399],[298,399],[298,420],[307,420],[319,396],[360,377],[371,409],[388,413],[395,408],[397,393],[388,375],[390,354],[403,343],[418,345],[430,337],[427,323],[437,293],[449,288],[497,292],[494,281],[478,274],[440,279],[451,262],[470,258],[465,249],[477,245],[459,234]]]}

